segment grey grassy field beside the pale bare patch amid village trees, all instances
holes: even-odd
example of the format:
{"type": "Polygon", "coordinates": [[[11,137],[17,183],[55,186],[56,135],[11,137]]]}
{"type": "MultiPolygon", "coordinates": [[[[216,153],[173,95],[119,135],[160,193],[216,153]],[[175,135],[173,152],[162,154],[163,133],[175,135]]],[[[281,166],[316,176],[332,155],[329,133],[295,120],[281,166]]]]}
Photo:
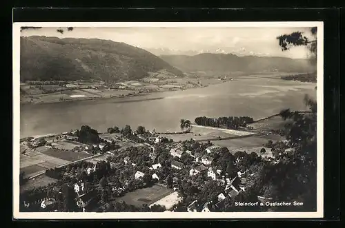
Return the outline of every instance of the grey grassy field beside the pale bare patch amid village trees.
{"type": "Polygon", "coordinates": [[[141,207],[143,204],[150,205],[157,202],[161,198],[168,196],[172,193],[172,189],[168,189],[161,185],[154,185],[152,187],[137,189],[132,192],[128,192],[125,196],[116,198],[115,201],[124,201],[129,205],[141,207]]]}

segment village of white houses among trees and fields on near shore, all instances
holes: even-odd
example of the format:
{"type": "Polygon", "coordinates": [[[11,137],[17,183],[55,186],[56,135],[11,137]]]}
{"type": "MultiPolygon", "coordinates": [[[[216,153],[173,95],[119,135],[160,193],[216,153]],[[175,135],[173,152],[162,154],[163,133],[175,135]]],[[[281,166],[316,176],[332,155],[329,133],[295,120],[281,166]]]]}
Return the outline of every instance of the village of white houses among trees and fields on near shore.
{"type": "MultiPolygon", "coordinates": [[[[57,198],[63,198],[63,185],[74,191],[77,211],[111,211],[114,204],[120,207],[119,202],[135,207],[146,205],[148,211],[157,207],[158,211],[221,211],[226,200],[246,194],[250,188],[247,179],[255,173],[249,171],[250,165],[243,164],[250,156],[253,158],[249,163],[253,159],[278,163],[272,157],[257,156],[259,152],[233,155],[226,147],[209,141],[199,143],[190,138],[174,142],[145,127],[132,130],[129,125],[121,130],[110,127],[103,134],[83,126],[60,135],[25,138],[21,145],[26,147],[21,156],[30,156],[26,159],[28,166],[21,172],[41,167],[38,172],[33,169],[31,176],[21,176],[29,183],[23,187],[35,181],[42,185],[32,185],[41,189],[41,197],[26,193],[32,189],[21,191],[23,208],[40,205],[39,210],[43,211],[59,211],[57,198]],[[85,139],[81,139],[83,129],[88,134],[85,139]],[[90,143],[92,137],[94,143],[90,143]],[[39,160],[36,163],[35,157],[39,160]],[[40,178],[50,181],[39,181],[40,178]],[[203,191],[208,191],[204,187],[210,181],[215,191],[207,196],[203,191]]],[[[257,200],[266,202],[272,198],[257,196],[257,200]]]]}

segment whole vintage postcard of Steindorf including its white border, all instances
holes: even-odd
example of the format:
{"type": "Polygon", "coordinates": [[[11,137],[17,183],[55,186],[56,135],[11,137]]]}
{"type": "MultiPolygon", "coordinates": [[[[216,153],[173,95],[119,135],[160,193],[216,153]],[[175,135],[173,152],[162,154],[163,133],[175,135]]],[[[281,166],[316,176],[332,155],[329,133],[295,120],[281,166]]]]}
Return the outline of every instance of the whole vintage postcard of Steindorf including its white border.
{"type": "Polygon", "coordinates": [[[323,23],[14,23],[13,217],[322,218],[323,23]]]}

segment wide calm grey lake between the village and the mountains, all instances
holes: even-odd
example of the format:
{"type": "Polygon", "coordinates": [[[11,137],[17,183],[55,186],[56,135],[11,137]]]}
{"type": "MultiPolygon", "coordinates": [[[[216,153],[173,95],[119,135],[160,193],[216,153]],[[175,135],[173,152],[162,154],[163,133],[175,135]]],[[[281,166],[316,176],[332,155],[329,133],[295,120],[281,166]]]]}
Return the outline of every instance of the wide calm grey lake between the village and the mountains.
{"type": "Polygon", "coordinates": [[[158,132],[179,131],[181,118],[252,116],[262,118],[284,108],[305,110],[304,94],[316,98],[316,83],[244,76],[204,88],[158,92],[119,99],[21,105],[21,138],[68,132],[90,125],[143,125],[158,132]]]}

